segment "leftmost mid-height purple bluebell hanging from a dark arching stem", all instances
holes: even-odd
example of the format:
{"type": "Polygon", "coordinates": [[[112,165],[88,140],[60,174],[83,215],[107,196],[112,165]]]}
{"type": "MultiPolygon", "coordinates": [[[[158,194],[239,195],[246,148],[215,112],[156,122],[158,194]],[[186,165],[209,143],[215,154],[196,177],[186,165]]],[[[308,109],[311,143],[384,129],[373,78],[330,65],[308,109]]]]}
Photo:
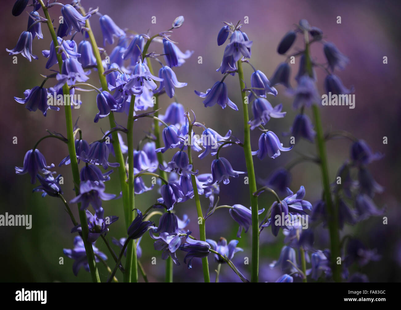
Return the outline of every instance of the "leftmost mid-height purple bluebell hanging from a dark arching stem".
{"type": "Polygon", "coordinates": [[[15,167],[16,174],[25,174],[29,173],[30,182],[32,184],[36,183],[36,174],[38,172],[43,174],[49,174],[50,168],[53,168],[54,164],[52,163],[50,166],[47,165],[45,156],[38,149],[30,149],[25,153],[24,156],[24,165],[23,167],[15,167]]]}

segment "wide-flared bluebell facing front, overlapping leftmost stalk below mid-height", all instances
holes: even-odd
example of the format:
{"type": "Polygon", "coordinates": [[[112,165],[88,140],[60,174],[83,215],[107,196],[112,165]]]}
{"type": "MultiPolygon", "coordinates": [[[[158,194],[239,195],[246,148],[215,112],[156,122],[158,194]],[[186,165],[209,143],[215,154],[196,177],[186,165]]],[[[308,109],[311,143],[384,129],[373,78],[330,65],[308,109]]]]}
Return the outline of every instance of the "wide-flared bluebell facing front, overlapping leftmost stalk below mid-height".
{"type": "Polygon", "coordinates": [[[102,200],[111,200],[116,196],[107,194],[103,182],[83,181],[79,184],[79,195],[70,200],[71,204],[81,202],[81,210],[85,210],[92,205],[95,211],[100,210],[102,200]]]}

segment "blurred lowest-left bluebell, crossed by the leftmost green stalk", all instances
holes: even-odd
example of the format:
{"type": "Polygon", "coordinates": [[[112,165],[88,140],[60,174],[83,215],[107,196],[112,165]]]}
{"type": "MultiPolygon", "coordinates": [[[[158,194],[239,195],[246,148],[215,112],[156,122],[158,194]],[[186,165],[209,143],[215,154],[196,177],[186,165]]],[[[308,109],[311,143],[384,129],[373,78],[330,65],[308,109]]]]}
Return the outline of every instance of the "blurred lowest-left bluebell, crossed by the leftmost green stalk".
{"type": "MultiPolygon", "coordinates": [[[[95,261],[97,263],[100,262],[99,257],[103,260],[107,259],[107,256],[103,252],[100,252],[99,249],[97,249],[97,247],[95,247],[93,243],[92,243],[92,248],[93,252],[96,254],[95,261]]],[[[86,256],[85,245],[83,244],[81,236],[76,236],[74,238],[73,249],[63,249],[63,252],[67,257],[75,260],[73,263],[73,273],[75,276],[78,275],[78,271],[79,269],[81,269],[81,267],[83,267],[85,271],[89,272],[89,264],[86,256]]]]}

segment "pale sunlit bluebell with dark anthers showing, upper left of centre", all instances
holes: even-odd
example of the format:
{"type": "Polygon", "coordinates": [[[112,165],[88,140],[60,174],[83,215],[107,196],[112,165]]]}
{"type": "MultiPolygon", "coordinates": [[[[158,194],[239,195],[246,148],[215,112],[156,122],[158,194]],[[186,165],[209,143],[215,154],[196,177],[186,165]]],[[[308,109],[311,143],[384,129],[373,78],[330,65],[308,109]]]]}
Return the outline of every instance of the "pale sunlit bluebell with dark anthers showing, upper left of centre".
{"type": "Polygon", "coordinates": [[[162,82],[163,79],[152,75],[146,63],[138,63],[134,67],[130,80],[124,85],[123,90],[130,90],[131,94],[139,95],[142,93],[142,88],[155,90],[157,88],[154,81],[162,82]]]}

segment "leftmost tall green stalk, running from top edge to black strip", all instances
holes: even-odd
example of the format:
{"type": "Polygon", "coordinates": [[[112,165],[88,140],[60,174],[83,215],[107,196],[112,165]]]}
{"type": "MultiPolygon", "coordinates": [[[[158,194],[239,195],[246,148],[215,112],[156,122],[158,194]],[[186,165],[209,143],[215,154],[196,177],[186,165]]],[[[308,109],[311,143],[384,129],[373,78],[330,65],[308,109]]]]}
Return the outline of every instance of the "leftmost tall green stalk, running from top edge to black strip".
{"type": "MultiPolygon", "coordinates": [[[[47,19],[47,26],[49,27],[49,31],[51,34],[51,37],[53,39],[54,46],[58,46],[59,43],[57,42],[57,35],[54,31],[53,28],[53,23],[51,22],[51,17],[49,15],[49,12],[43,3],[43,0],[39,0],[43,13],[45,14],[45,17],[47,19]]],[[[57,61],[59,62],[59,69],[61,72],[61,67],[63,65],[63,59],[61,58],[61,54],[57,54],[57,61]]],[[[69,94],[70,90],[67,85],[67,83],[63,86],[63,94],[69,94]]],[[[78,169],[78,162],[77,162],[77,153],[75,152],[75,141],[74,141],[74,134],[73,134],[73,120],[72,120],[72,115],[71,115],[71,106],[69,105],[69,96],[66,96],[67,102],[64,102],[64,110],[65,110],[65,124],[67,127],[67,145],[68,145],[68,153],[70,155],[70,160],[71,160],[71,170],[73,173],[73,180],[75,184],[75,194],[79,195],[79,169],[78,169]]],[[[82,240],[83,244],[85,246],[85,251],[86,251],[86,256],[88,259],[88,264],[89,264],[89,271],[91,274],[91,278],[93,282],[100,282],[99,278],[99,272],[97,271],[96,267],[96,261],[95,261],[95,255],[93,253],[93,247],[90,242],[88,242],[88,233],[89,233],[89,228],[87,223],[87,218],[86,218],[86,213],[85,210],[81,210],[81,204],[78,204],[78,212],[79,212],[79,220],[81,222],[82,226],[82,240]]]]}

